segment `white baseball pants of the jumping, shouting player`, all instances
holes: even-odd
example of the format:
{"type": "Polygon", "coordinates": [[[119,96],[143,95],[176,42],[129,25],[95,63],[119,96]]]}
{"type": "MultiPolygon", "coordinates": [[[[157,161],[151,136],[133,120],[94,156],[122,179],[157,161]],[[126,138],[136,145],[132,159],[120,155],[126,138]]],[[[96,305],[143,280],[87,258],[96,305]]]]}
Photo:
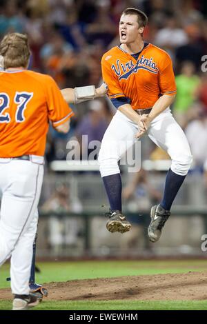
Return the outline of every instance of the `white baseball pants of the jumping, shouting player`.
{"type": "MultiPolygon", "coordinates": [[[[101,143],[99,165],[102,177],[120,173],[118,161],[135,143],[137,131],[137,124],[117,110],[101,143]]],[[[181,176],[186,175],[192,163],[192,155],[186,135],[172,117],[170,108],[152,121],[147,134],[159,148],[168,152],[172,159],[171,170],[181,176]]]]}

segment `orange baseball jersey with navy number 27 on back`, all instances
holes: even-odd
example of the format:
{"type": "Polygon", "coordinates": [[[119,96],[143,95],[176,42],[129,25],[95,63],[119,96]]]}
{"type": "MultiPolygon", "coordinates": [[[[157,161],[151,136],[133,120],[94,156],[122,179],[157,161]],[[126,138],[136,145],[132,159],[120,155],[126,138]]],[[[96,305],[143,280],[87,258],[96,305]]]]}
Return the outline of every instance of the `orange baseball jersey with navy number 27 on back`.
{"type": "Polygon", "coordinates": [[[43,156],[49,121],[65,123],[73,112],[52,77],[29,70],[0,72],[0,157],[43,156]]]}

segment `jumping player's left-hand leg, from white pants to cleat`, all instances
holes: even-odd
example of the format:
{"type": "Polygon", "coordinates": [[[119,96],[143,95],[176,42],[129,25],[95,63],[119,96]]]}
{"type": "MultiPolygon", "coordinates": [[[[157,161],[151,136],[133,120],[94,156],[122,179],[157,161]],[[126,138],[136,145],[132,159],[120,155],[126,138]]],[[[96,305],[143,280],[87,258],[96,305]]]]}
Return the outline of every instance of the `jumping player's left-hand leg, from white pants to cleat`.
{"type": "Polygon", "coordinates": [[[131,224],[122,213],[121,175],[118,162],[121,156],[135,143],[136,125],[121,112],[117,111],[103,136],[99,152],[99,165],[108,201],[110,203],[109,220],[106,228],[109,232],[128,232],[131,224]]]}

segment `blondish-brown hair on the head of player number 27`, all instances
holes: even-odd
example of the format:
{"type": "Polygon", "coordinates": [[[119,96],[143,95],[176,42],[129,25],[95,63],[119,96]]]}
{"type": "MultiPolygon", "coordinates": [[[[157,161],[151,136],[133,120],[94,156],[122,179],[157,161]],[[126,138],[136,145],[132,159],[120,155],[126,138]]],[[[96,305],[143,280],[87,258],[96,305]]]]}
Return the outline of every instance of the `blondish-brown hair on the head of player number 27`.
{"type": "Polygon", "coordinates": [[[30,47],[26,34],[17,32],[6,34],[0,43],[0,55],[3,56],[3,67],[26,68],[30,59],[30,47]]]}

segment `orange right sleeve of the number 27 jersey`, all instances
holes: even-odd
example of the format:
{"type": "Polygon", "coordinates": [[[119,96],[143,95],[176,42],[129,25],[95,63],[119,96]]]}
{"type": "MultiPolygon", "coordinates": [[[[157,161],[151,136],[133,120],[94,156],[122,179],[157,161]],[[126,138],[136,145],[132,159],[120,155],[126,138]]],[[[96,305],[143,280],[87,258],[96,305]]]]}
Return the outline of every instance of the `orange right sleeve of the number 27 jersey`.
{"type": "Polygon", "coordinates": [[[70,119],[74,112],[66,103],[55,81],[48,77],[46,84],[46,98],[48,103],[48,118],[53,127],[57,127],[70,119]]]}

